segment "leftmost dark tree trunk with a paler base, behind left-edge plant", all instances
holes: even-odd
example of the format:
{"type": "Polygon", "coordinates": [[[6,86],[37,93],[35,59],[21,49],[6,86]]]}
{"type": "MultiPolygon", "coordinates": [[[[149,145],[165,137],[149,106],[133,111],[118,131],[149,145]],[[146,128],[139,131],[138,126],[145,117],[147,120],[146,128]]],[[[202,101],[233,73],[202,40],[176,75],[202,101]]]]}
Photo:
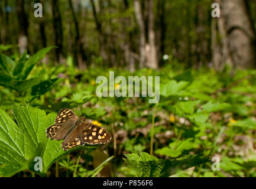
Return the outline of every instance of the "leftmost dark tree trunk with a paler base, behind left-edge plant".
{"type": "Polygon", "coordinates": [[[28,47],[28,15],[24,8],[25,1],[17,1],[17,12],[19,22],[18,45],[20,54],[24,53],[28,47]]]}

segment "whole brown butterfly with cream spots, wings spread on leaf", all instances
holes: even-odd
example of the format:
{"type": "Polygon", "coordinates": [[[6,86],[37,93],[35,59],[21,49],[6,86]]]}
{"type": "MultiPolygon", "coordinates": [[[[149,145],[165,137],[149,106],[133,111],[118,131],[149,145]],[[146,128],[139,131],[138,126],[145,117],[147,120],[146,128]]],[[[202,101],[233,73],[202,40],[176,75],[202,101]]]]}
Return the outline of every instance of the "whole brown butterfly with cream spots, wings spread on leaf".
{"type": "Polygon", "coordinates": [[[111,141],[111,134],[106,129],[79,118],[70,109],[61,109],[55,124],[46,129],[46,135],[52,140],[60,141],[64,151],[78,145],[106,144],[111,141]]]}

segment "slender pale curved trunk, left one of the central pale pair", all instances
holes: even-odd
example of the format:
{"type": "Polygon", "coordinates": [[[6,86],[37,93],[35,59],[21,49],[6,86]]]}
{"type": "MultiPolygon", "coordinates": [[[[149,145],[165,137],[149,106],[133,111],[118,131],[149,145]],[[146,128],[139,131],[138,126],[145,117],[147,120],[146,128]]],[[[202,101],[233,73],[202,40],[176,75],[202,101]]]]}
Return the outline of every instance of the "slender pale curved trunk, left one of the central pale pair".
{"type": "Polygon", "coordinates": [[[138,25],[140,27],[140,69],[145,66],[146,61],[146,38],[145,38],[145,24],[142,17],[142,10],[139,0],[134,1],[135,17],[137,19],[138,25]]]}

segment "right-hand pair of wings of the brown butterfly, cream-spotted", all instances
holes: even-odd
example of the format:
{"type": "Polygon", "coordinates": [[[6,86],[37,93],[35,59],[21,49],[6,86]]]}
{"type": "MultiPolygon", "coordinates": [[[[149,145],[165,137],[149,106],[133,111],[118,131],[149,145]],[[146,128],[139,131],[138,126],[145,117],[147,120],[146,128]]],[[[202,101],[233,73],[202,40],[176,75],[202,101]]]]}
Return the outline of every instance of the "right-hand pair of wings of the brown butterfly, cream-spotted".
{"type": "Polygon", "coordinates": [[[106,129],[89,122],[81,122],[76,125],[73,132],[70,132],[61,143],[64,151],[78,145],[106,144],[112,139],[111,134],[106,129]]]}

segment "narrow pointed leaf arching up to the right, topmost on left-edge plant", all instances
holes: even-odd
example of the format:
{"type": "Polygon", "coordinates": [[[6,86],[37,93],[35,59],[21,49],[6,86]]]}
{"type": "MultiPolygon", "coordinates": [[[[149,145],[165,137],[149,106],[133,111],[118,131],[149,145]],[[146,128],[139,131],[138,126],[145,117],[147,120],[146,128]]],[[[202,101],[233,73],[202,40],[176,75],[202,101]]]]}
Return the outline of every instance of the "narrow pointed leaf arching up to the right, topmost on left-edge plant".
{"type": "Polygon", "coordinates": [[[35,64],[37,64],[38,61],[40,61],[52,48],[54,48],[54,46],[43,48],[25,61],[24,69],[22,70],[22,80],[25,80],[28,77],[28,74],[30,74],[30,71],[33,69],[35,64]]]}

